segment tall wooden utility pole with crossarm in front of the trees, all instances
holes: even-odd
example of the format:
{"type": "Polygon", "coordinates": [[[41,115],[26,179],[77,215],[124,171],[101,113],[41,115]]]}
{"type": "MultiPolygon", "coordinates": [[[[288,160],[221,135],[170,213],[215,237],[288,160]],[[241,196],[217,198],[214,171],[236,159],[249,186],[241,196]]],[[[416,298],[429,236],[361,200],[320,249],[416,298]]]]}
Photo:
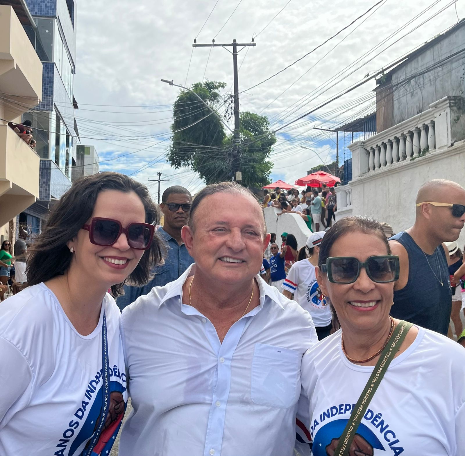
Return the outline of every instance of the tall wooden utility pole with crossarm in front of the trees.
{"type": "Polygon", "coordinates": [[[239,138],[239,79],[238,79],[238,67],[237,67],[237,54],[242,51],[246,46],[257,46],[253,41],[252,43],[237,43],[233,40],[232,43],[215,43],[213,38],[212,44],[197,44],[194,40],[192,47],[224,47],[226,51],[233,55],[233,76],[234,76],[234,132],[233,132],[233,151],[231,153],[231,167],[233,171],[233,180],[242,180],[242,172],[240,169],[240,138],[239,138]],[[239,51],[238,46],[242,46],[239,51]],[[231,52],[228,47],[233,48],[231,52]]]}

